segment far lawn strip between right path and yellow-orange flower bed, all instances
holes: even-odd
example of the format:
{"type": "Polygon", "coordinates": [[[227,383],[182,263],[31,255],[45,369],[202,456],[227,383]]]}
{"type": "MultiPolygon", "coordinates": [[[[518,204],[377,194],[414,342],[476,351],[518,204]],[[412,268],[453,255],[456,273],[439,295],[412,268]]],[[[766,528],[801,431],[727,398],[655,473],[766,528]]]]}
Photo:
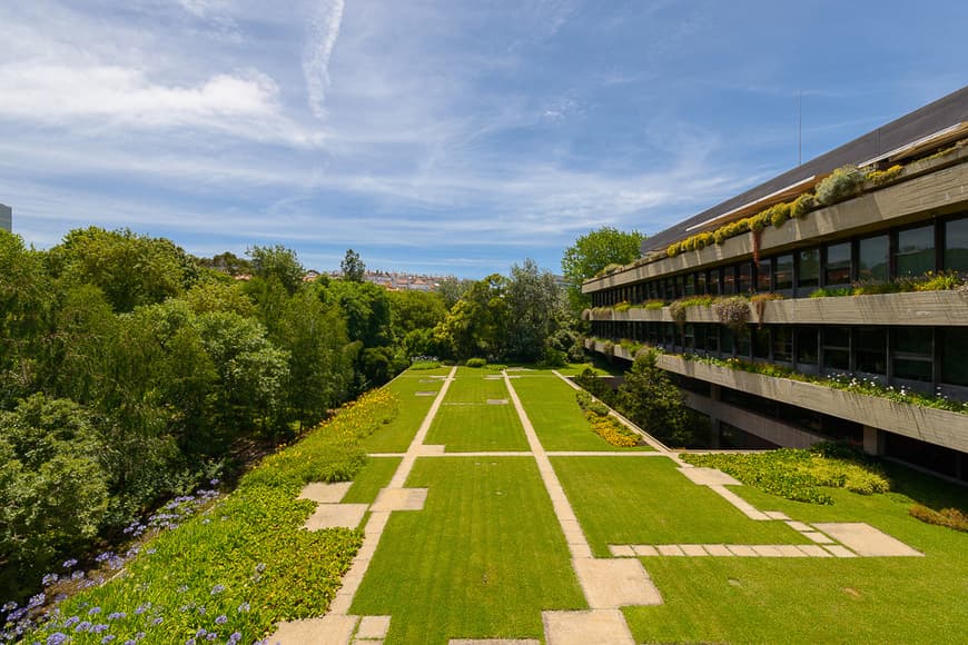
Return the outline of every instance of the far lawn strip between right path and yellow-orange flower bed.
{"type": "Polygon", "coordinates": [[[575,390],[551,373],[515,378],[512,386],[545,450],[652,450],[613,446],[595,434],[575,401],[575,390]]]}

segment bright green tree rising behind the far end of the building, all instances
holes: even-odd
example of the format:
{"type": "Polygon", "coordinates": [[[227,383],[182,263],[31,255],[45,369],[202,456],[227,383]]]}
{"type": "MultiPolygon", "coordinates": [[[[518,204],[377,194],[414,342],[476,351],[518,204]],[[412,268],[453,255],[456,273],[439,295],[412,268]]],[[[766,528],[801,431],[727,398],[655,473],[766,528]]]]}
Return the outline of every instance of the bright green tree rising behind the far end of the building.
{"type": "Polygon", "coordinates": [[[603,226],[579,237],[567,247],[561,259],[561,268],[569,281],[569,304],[575,315],[591,305],[591,299],[582,294],[582,282],[609,265],[626,265],[639,257],[639,247],[645,236],[638,230],[623,232],[603,226]]]}

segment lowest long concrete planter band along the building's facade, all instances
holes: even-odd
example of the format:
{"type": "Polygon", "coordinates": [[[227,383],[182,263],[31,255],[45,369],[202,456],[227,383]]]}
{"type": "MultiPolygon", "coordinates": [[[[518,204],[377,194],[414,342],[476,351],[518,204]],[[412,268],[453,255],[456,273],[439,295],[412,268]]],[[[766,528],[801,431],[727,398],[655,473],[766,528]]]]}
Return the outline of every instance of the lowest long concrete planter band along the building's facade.
{"type": "Polygon", "coordinates": [[[849,419],[929,444],[968,452],[968,415],[925,408],[823,385],[762,376],[718,365],[661,355],[659,366],[715,385],[788,401],[811,410],[849,419]]]}

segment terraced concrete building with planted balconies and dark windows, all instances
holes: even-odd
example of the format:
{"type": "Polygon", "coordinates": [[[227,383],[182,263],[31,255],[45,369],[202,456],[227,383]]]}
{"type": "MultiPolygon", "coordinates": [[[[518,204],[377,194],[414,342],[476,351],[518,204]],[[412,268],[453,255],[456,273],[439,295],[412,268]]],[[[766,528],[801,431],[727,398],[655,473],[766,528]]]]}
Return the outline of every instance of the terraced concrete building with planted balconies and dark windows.
{"type": "Polygon", "coordinates": [[[968,87],[646,239],[584,284],[587,343],[662,348],[722,447],[839,438],[968,480],[968,414],[939,399],[968,401],[958,272],[968,87]]]}

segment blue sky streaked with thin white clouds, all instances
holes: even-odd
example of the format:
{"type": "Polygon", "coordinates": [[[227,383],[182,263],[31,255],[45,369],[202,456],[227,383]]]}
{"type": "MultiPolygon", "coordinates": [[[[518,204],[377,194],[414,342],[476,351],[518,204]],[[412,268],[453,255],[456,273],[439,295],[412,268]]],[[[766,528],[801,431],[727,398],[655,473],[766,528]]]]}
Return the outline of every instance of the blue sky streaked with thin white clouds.
{"type": "Polygon", "coordinates": [[[0,3],[0,202],[481,277],[658,232],[968,82],[965,2],[0,3]]]}

